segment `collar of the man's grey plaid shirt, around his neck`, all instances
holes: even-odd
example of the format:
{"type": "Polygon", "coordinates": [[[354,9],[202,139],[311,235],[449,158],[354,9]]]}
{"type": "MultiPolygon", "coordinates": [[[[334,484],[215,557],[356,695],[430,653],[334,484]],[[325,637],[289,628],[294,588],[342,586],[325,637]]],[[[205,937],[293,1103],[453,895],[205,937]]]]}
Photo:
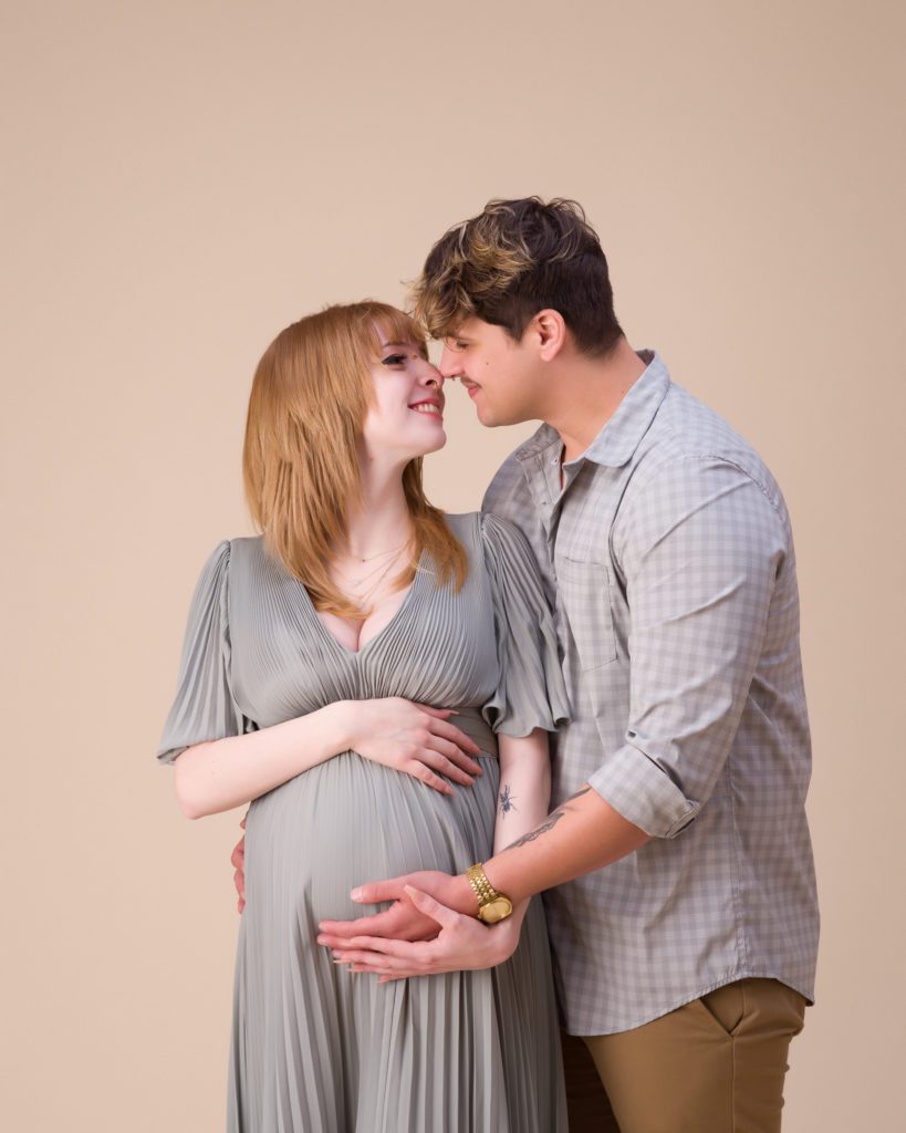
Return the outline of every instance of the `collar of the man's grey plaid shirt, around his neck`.
{"type": "MultiPolygon", "coordinates": [[[[591,460],[596,465],[621,468],[639,448],[670,385],[670,375],[657,351],[640,350],[646,369],[619,402],[614,416],[606,423],[591,444],[576,460],[591,460]]],[[[541,427],[515,451],[516,460],[530,460],[552,445],[561,445],[559,434],[550,425],[541,427]]]]}

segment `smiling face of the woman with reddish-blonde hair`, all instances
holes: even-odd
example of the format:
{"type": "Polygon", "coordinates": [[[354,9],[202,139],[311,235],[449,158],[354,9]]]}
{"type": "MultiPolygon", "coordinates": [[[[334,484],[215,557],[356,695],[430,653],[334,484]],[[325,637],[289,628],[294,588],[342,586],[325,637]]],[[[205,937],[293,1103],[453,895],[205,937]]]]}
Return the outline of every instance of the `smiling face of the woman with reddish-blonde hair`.
{"type": "Polygon", "coordinates": [[[444,378],[416,341],[391,342],[381,334],[381,358],[371,366],[374,401],[362,436],[373,460],[407,465],[446,444],[444,378]]]}

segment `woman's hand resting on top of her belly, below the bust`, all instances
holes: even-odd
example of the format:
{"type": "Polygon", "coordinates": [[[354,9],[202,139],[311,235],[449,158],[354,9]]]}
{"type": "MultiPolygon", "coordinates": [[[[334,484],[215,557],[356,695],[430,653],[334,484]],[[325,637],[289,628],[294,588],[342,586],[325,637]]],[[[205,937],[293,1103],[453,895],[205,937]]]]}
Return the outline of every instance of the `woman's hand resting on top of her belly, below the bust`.
{"type": "MultiPolygon", "coordinates": [[[[441,794],[453,794],[443,778],[471,786],[481,767],[481,749],[451,724],[451,708],[431,708],[403,697],[347,700],[349,747],[373,763],[411,775],[441,794]]],[[[435,931],[437,926],[435,925],[435,931]]]]}

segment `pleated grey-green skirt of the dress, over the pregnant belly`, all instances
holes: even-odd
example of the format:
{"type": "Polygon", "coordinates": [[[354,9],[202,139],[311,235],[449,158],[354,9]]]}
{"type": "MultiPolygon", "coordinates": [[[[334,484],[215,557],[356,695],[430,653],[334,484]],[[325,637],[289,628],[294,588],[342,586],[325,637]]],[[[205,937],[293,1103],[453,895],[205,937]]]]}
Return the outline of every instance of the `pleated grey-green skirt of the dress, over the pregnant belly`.
{"type": "Polygon", "coordinates": [[[246,826],[230,1133],[566,1130],[547,932],[486,971],[378,985],[332,962],[318,921],[377,911],[349,893],[492,853],[498,766],[455,795],[337,756],[256,800],[246,826]]]}

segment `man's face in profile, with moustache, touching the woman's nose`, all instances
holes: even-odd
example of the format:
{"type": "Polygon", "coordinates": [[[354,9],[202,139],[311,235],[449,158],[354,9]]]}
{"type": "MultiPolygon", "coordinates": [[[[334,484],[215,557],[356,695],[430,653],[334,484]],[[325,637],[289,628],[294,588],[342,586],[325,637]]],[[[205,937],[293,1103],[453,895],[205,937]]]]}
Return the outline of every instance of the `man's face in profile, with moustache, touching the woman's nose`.
{"type": "Polygon", "coordinates": [[[515,425],[540,416],[544,367],[530,332],[514,342],[502,326],[468,318],[444,340],[439,370],[458,377],[482,425],[515,425]]]}

